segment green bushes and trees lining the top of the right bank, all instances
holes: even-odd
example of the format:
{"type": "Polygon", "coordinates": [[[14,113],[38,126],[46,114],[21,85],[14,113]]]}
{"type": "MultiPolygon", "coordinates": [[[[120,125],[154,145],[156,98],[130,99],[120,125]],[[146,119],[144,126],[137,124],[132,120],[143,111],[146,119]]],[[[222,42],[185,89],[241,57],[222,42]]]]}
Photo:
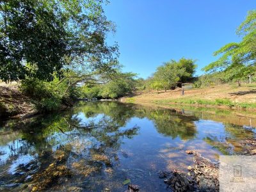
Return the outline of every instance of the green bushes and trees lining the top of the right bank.
{"type": "Polygon", "coordinates": [[[256,81],[256,10],[248,12],[246,19],[237,28],[241,42],[224,45],[214,56],[218,60],[202,68],[206,72],[195,77],[195,60],[181,58],[168,61],[157,68],[147,79],[140,79],[138,90],[170,90],[177,83],[193,83],[195,87],[214,86],[216,84],[237,82],[252,83],[256,81]]]}

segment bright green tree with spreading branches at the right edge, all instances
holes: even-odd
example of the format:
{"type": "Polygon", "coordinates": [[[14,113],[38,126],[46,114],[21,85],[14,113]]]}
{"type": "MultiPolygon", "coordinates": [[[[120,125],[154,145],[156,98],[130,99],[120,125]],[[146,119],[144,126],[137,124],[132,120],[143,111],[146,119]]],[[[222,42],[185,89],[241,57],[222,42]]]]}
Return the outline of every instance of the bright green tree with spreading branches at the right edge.
{"type": "Polygon", "coordinates": [[[244,22],[237,28],[237,35],[242,37],[241,42],[232,42],[214,52],[214,56],[221,55],[203,68],[205,72],[223,71],[228,79],[236,79],[239,86],[241,79],[255,73],[256,62],[256,10],[248,12],[244,22]]]}

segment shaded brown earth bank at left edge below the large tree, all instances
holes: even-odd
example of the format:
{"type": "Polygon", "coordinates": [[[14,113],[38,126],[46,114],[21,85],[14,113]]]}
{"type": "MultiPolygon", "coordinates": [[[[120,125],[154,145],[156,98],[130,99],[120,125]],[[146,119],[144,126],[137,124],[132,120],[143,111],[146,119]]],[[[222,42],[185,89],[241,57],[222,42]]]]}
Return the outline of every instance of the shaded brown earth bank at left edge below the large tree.
{"type": "Polygon", "coordinates": [[[0,83],[0,116],[26,118],[36,113],[35,105],[19,91],[17,84],[0,83]]]}

